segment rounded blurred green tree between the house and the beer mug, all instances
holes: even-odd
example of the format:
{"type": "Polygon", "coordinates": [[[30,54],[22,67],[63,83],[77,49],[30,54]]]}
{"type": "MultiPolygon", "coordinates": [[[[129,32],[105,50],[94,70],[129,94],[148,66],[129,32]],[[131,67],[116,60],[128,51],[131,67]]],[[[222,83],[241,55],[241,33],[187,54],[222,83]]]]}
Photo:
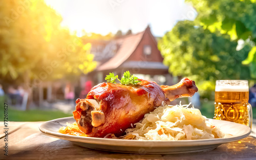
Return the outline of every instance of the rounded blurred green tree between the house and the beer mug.
{"type": "Polygon", "coordinates": [[[250,47],[236,51],[237,42],[229,35],[211,33],[193,21],[179,21],[158,47],[169,72],[195,80],[203,95],[215,89],[217,79],[250,78],[248,67],[241,64],[250,47]]]}

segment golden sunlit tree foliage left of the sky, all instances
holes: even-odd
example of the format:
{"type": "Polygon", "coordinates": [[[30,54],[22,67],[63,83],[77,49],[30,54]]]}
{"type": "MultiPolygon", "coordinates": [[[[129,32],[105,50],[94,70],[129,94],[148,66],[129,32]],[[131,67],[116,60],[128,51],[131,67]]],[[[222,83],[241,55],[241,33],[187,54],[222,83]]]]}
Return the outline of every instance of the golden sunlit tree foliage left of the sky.
{"type": "Polygon", "coordinates": [[[62,28],[61,16],[44,1],[1,1],[0,17],[3,79],[44,81],[86,74],[95,68],[90,43],[83,44],[62,28]]]}

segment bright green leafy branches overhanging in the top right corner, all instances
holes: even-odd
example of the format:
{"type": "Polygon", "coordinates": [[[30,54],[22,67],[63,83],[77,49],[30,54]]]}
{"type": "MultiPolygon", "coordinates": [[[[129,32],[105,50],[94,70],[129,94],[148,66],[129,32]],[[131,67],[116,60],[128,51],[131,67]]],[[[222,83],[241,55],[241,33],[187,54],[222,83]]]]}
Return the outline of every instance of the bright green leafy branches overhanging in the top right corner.
{"type": "MultiPolygon", "coordinates": [[[[256,78],[256,1],[255,0],[186,0],[195,7],[197,25],[212,33],[228,34],[231,41],[246,40],[251,47],[242,63],[248,65],[252,78],[256,78]]],[[[248,46],[247,46],[248,47],[248,46]]]]}

